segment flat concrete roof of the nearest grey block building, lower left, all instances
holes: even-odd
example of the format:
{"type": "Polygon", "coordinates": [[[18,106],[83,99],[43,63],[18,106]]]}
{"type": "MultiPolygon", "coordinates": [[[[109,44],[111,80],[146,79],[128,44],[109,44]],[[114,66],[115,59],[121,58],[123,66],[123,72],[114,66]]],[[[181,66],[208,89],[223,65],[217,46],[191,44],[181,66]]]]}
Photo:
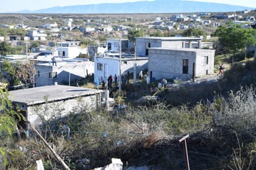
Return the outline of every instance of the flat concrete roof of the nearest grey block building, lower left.
{"type": "Polygon", "coordinates": [[[9,99],[13,102],[34,105],[45,103],[45,99],[48,102],[63,101],[76,97],[93,96],[102,92],[104,91],[83,87],[52,85],[9,91],[9,99]]]}

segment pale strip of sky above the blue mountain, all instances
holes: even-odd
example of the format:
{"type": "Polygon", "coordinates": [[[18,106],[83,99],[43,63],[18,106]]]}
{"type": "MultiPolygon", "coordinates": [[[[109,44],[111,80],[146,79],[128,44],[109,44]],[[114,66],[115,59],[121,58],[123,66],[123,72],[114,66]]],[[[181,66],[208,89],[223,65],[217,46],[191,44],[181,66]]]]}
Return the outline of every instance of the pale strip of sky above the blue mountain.
{"type": "MultiPolygon", "coordinates": [[[[122,3],[135,1],[153,1],[153,0],[7,0],[1,3],[0,13],[17,12],[24,9],[30,11],[45,9],[54,6],[76,6],[86,4],[101,4],[101,3],[122,3]]],[[[188,0],[188,1],[203,1],[203,2],[217,2],[222,4],[233,4],[238,6],[255,7],[255,0],[188,0]]],[[[171,0],[170,0],[171,2],[171,0]]]]}

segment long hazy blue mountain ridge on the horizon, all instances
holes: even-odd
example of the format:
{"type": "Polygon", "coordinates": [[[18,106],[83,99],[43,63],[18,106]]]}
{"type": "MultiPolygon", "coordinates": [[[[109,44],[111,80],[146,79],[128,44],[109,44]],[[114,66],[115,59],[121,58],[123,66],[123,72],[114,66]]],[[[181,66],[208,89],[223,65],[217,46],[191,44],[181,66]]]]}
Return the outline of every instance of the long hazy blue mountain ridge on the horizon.
{"type": "Polygon", "coordinates": [[[79,6],[51,7],[36,11],[17,13],[45,14],[131,14],[131,13],[180,13],[180,12],[232,12],[254,9],[252,7],[232,6],[212,2],[182,0],[155,0],[124,3],[90,4],[79,6]]]}

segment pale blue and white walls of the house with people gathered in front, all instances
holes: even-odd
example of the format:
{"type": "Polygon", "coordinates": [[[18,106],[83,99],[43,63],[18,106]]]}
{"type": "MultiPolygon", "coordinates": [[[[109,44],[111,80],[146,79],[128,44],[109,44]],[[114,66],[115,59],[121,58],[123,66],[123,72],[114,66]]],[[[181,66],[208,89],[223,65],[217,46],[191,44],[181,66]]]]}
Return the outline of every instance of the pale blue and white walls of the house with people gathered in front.
{"type": "MultiPolygon", "coordinates": [[[[134,63],[136,64],[136,72],[139,73],[140,69],[147,68],[148,59],[147,58],[138,58],[136,60],[134,59],[127,59],[122,58],[122,64],[121,64],[121,74],[127,74],[127,71],[130,71],[132,73],[134,71],[134,63]]],[[[119,58],[109,58],[109,57],[96,57],[94,58],[94,77],[98,78],[101,82],[104,80],[107,82],[107,78],[109,75],[114,74],[117,75],[119,78],[119,58]],[[98,63],[103,64],[103,69],[98,70],[97,65],[98,63]],[[105,66],[108,66],[105,68],[105,66]]]]}

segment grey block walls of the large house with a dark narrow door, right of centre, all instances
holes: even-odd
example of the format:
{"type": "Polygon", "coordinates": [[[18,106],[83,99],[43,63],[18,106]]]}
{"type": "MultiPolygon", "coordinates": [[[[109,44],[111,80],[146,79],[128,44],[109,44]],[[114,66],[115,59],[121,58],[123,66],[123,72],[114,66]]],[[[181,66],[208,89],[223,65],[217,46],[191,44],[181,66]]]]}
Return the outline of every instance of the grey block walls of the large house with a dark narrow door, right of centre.
{"type": "Polygon", "coordinates": [[[191,79],[195,63],[195,76],[214,73],[214,50],[171,50],[151,48],[149,50],[149,72],[152,78],[191,79]],[[208,56],[208,65],[205,57],[208,56]],[[183,60],[188,60],[188,74],[183,74],[183,60]]]}

